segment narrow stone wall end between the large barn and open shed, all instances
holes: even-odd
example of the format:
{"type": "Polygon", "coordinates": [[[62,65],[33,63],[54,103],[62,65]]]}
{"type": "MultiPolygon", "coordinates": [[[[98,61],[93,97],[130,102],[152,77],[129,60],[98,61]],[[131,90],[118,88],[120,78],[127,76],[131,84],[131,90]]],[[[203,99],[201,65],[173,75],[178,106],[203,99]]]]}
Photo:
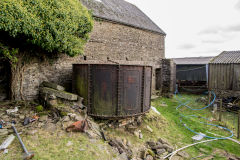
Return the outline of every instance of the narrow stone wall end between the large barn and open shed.
{"type": "Polygon", "coordinates": [[[162,60],[162,94],[174,93],[176,86],[176,64],[172,59],[162,60]]]}

